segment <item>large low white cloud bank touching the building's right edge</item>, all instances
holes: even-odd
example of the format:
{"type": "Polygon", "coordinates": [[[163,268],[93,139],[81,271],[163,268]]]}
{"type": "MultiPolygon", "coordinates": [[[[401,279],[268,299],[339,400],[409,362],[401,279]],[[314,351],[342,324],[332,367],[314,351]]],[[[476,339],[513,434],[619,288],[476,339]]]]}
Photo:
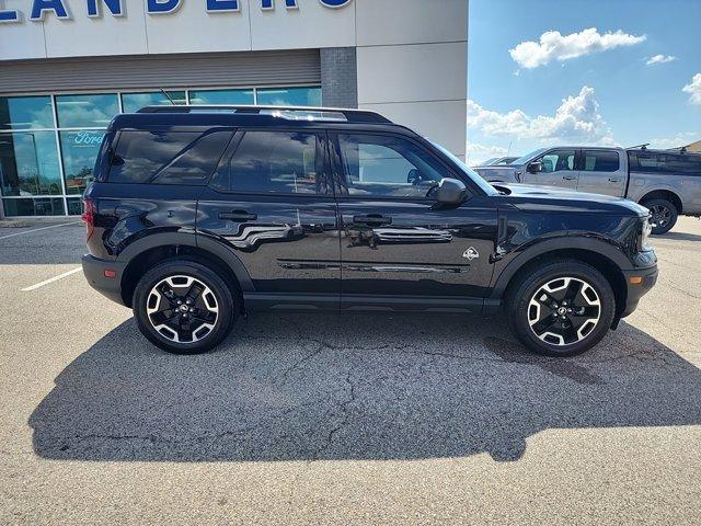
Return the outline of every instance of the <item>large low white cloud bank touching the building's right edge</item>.
{"type": "Polygon", "coordinates": [[[531,117],[521,110],[498,113],[485,110],[474,101],[468,101],[468,127],[485,136],[614,144],[611,130],[599,113],[594,88],[587,85],[577,95],[563,99],[552,116],[531,117]]]}

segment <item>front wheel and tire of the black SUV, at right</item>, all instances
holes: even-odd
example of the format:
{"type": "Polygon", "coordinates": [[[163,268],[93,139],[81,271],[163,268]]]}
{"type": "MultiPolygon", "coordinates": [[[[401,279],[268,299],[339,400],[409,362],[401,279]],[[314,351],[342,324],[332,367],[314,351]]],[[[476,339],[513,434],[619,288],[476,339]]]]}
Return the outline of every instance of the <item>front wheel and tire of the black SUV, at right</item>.
{"type": "Polygon", "coordinates": [[[545,356],[575,356],[599,343],[616,313],[606,277],[578,260],[545,261],[531,271],[517,277],[507,295],[514,335],[545,356]]]}

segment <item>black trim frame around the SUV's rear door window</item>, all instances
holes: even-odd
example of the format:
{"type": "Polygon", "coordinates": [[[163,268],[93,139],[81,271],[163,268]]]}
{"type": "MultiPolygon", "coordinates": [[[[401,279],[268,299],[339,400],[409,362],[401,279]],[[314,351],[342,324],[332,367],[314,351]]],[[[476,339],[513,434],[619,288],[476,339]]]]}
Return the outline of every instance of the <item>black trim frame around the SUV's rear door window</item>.
{"type": "MultiPolygon", "coordinates": [[[[288,126],[281,126],[281,127],[275,127],[275,128],[271,128],[271,127],[261,127],[261,126],[251,126],[251,127],[239,127],[234,130],[233,133],[233,137],[231,138],[231,140],[229,141],[229,145],[227,146],[227,148],[223,151],[223,155],[219,158],[219,162],[217,163],[217,167],[215,168],[215,170],[211,172],[211,175],[209,176],[209,181],[207,181],[207,188],[211,190],[212,192],[216,192],[218,194],[222,194],[222,195],[246,195],[246,196],[260,196],[260,197],[306,197],[306,198],[329,198],[332,201],[335,201],[336,197],[336,188],[334,183],[334,179],[333,179],[333,174],[331,173],[330,170],[330,163],[329,163],[329,151],[327,151],[327,147],[325,146],[327,142],[327,130],[326,129],[307,129],[307,128],[294,128],[294,127],[288,127],[288,126]],[[215,174],[217,173],[217,171],[219,170],[219,167],[222,163],[229,163],[231,158],[237,153],[237,151],[239,150],[239,147],[241,146],[241,142],[243,140],[243,137],[245,136],[246,133],[249,132],[266,132],[266,133],[296,133],[296,134],[309,134],[309,135],[314,135],[317,136],[317,148],[315,148],[315,156],[319,157],[321,156],[321,163],[322,163],[322,170],[323,170],[323,174],[324,176],[329,181],[329,186],[331,187],[331,192],[327,194],[302,194],[302,193],[295,193],[295,192],[250,192],[250,191],[241,191],[241,190],[232,190],[231,188],[231,181],[229,181],[229,190],[223,190],[217,186],[214,186],[211,184],[211,180],[215,176],[215,174]]],[[[319,159],[317,159],[317,162],[319,162],[319,159]]]]}

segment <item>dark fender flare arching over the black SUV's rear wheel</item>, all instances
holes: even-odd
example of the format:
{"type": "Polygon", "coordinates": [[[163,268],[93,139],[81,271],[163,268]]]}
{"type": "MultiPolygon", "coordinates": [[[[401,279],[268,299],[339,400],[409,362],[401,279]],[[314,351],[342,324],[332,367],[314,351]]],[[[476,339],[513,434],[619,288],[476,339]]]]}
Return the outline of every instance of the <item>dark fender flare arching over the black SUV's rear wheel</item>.
{"type": "Polygon", "coordinates": [[[151,233],[127,245],[118,255],[117,261],[124,262],[125,267],[139,254],[159,247],[184,245],[204,250],[221,260],[239,281],[242,291],[254,291],[253,281],[243,262],[233,250],[216,238],[195,233],[193,230],[151,233]]]}

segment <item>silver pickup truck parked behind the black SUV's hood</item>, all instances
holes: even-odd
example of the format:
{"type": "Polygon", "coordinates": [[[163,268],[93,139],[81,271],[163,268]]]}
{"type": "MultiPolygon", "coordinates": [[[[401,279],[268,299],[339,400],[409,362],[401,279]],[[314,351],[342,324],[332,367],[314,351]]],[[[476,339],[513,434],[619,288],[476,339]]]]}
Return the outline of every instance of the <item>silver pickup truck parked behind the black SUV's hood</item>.
{"type": "Polygon", "coordinates": [[[490,183],[559,186],[625,197],[650,208],[653,233],[665,233],[679,215],[701,216],[701,155],[644,148],[558,146],[508,165],[476,167],[490,183]]]}

